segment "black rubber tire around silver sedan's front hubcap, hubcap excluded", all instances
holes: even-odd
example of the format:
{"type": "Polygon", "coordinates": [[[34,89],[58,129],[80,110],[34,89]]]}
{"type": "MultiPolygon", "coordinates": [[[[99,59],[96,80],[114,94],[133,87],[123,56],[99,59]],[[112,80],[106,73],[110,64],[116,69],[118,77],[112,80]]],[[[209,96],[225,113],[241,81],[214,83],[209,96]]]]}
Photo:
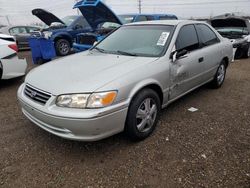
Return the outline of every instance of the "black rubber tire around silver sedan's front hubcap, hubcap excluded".
{"type": "Polygon", "coordinates": [[[126,131],[127,135],[132,140],[135,140],[135,141],[143,140],[143,139],[147,138],[148,136],[150,136],[157,125],[160,110],[161,110],[161,102],[160,102],[160,99],[159,99],[159,96],[157,95],[157,93],[155,91],[153,91],[152,89],[141,90],[133,98],[133,100],[131,101],[130,106],[129,106],[127,119],[126,119],[126,125],[125,125],[125,131],[126,131]],[[154,100],[154,102],[157,106],[157,115],[156,115],[156,119],[155,119],[155,122],[154,122],[154,125],[152,126],[152,128],[150,130],[148,130],[147,132],[140,132],[137,129],[136,114],[137,114],[138,108],[140,107],[140,105],[142,104],[142,102],[146,98],[151,98],[152,100],[154,100]]]}

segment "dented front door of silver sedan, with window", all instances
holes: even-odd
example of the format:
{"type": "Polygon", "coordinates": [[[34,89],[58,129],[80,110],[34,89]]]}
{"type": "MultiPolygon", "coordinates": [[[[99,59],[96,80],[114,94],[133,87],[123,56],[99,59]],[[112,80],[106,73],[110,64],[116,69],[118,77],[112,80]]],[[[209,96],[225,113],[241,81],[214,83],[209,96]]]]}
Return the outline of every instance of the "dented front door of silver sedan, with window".
{"type": "Polygon", "coordinates": [[[182,96],[204,82],[203,54],[199,49],[199,40],[193,24],[180,29],[175,48],[177,52],[187,50],[188,53],[172,62],[170,100],[182,96]]]}

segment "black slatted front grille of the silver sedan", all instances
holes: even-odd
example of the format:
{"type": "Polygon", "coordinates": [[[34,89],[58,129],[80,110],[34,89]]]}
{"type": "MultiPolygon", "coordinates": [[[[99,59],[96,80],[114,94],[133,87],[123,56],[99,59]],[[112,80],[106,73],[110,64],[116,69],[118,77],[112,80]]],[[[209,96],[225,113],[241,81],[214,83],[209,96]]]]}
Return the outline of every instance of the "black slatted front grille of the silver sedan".
{"type": "Polygon", "coordinates": [[[39,89],[36,89],[34,87],[31,87],[29,85],[25,86],[24,94],[32,99],[33,101],[36,101],[40,104],[46,104],[46,102],[50,99],[51,94],[46,93],[44,91],[41,91],[39,89]]]}

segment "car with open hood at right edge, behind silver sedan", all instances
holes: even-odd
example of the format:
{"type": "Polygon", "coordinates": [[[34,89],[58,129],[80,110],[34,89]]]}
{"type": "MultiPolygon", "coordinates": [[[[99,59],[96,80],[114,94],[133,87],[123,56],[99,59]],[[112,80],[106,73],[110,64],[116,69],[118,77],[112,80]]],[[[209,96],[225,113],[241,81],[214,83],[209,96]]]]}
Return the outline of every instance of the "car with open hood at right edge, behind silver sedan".
{"type": "Polygon", "coordinates": [[[236,58],[250,57],[250,22],[234,14],[211,19],[211,25],[225,38],[231,40],[236,58]]]}

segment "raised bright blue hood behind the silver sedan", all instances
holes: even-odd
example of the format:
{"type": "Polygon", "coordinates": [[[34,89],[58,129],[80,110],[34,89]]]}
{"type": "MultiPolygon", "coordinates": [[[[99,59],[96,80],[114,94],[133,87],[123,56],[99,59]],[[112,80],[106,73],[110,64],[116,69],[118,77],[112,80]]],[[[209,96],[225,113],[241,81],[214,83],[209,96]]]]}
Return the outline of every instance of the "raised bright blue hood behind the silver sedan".
{"type": "Polygon", "coordinates": [[[120,19],[100,0],[81,0],[75,4],[93,29],[104,22],[113,22],[122,25],[120,19]]]}

